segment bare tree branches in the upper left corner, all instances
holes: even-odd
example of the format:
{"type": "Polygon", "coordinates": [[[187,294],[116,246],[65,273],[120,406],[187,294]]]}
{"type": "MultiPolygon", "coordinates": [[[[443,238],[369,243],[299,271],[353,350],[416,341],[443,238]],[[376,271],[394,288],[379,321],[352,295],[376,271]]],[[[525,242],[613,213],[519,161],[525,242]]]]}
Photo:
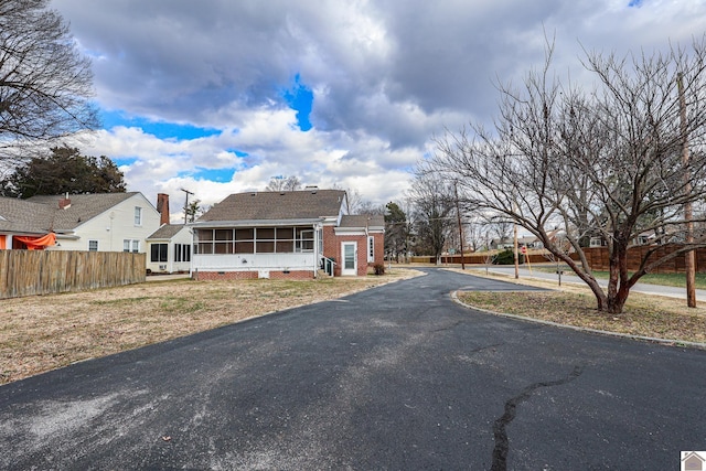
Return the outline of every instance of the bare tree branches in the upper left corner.
{"type": "Polygon", "coordinates": [[[98,126],[90,62],[47,4],[0,2],[0,160],[98,126]]]}

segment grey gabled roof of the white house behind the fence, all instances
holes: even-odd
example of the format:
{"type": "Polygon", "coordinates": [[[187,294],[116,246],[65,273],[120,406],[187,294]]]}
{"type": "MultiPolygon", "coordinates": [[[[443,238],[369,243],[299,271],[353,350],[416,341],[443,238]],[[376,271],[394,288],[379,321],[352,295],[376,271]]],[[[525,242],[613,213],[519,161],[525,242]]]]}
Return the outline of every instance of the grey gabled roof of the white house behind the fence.
{"type": "Polygon", "coordinates": [[[54,213],[52,229],[71,231],[84,224],[86,221],[108,211],[113,206],[139,194],[130,193],[93,193],[93,194],[69,194],[71,206],[60,210],[58,201],[62,196],[41,195],[26,200],[29,203],[39,203],[47,206],[54,213]]]}

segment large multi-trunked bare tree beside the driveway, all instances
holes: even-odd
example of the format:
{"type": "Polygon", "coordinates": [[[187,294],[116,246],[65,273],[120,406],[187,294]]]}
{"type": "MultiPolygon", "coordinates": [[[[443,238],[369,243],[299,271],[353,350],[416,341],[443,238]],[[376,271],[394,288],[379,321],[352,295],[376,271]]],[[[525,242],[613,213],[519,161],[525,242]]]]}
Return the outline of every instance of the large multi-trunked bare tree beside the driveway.
{"type": "Polygon", "coordinates": [[[683,231],[683,206],[706,194],[706,43],[652,55],[586,53],[597,78],[584,92],[563,86],[544,67],[530,72],[522,89],[500,86],[492,130],[471,125],[437,140],[430,167],[460,178],[480,206],[515,221],[542,240],[592,290],[598,309],[622,312],[630,288],[680,254],[706,245],[697,238],[671,254],[646,250],[628,271],[628,247],[644,232],[674,237],[683,231]],[[677,75],[688,118],[680,126],[677,75]],[[682,163],[684,142],[693,149],[682,163]],[[548,227],[560,222],[579,260],[557,246],[548,227]],[[589,236],[608,246],[610,278],[603,290],[584,251],[589,236]]]}

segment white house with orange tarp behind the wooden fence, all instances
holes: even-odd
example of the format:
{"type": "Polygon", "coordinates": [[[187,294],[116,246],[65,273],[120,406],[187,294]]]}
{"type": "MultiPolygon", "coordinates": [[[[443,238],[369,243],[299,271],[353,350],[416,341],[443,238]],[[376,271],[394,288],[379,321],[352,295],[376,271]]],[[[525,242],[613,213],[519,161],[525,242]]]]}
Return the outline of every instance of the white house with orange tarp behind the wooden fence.
{"type": "Polygon", "coordinates": [[[139,192],[0,197],[0,248],[146,253],[160,214],[139,192]]]}

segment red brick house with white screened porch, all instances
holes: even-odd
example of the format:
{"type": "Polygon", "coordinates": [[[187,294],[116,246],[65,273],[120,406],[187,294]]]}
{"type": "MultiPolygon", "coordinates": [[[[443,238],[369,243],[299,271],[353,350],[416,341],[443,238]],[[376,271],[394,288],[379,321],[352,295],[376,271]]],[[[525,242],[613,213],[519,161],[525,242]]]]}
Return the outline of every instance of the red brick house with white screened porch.
{"type": "Polygon", "coordinates": [[[345,214],[340,190],[232,194],[195,223],[196,279],[365,276],[383,264],[383,216],[345,214]]]}

